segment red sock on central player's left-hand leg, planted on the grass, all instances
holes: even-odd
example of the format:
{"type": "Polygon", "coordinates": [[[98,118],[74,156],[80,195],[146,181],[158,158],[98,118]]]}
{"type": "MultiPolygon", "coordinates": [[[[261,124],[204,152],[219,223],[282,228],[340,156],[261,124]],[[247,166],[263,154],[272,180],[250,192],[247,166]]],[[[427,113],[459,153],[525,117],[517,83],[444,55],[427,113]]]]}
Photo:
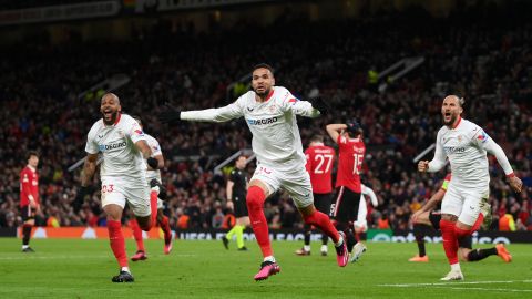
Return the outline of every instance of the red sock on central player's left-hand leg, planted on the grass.
{"type": "Polygon", "coordinates": [[[264,200],[266,196],[258,186],[250,186],[247,190],[246,203],[249,212],[249,220],[252,223],[253,233],[257,239],[258,246],[264,257],[273,256],[272,244],[269,243],[268,223],[264,216],[264,200]]]}

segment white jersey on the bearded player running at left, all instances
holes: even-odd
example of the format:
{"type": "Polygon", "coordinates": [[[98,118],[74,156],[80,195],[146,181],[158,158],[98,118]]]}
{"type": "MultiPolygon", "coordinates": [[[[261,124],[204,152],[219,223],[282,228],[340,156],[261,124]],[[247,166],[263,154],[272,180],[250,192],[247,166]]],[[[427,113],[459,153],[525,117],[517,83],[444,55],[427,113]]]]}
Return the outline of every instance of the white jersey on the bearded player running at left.
{"type": "Polygon", "coordinates": [[[113,125],[105,125],[103,120],[95,122],[86,138],[85,152],[103,155],[100,176],[119,176],[123,178],[145,177],[146,163],[136,148],[137,141],[145,141],[139,123],[127,114],[119,114],[113,125]]]}

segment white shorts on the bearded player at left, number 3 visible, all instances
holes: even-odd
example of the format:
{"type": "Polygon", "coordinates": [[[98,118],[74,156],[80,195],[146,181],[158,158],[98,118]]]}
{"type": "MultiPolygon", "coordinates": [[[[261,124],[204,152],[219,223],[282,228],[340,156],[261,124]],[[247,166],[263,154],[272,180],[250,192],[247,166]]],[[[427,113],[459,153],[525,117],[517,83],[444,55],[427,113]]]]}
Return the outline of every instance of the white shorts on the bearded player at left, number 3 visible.
{"type": "Polygon", "coordinates": [[[102,177],[102,207],[114,204],[124,208],[126,202],[135,216],[152,214],[146,178],[102,177]]]}

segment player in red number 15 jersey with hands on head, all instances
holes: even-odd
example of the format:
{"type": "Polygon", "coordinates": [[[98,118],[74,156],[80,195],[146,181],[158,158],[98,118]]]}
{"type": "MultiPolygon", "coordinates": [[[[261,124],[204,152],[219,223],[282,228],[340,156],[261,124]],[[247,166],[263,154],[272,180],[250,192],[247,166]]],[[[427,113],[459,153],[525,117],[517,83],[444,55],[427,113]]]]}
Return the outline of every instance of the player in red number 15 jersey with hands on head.
{"type": "Polygon", "coordinates": [[[360,171],[366,145],[360,124],[356,121],[349,124],[328,124],[326,128],[338,144],[337,195],[336,202],[330,206],[330,216],[336,220],[336,228],[347,236],[347,250],[351,252],[357,243],[352,224],[357,220],[360,205],[360,171]]]}

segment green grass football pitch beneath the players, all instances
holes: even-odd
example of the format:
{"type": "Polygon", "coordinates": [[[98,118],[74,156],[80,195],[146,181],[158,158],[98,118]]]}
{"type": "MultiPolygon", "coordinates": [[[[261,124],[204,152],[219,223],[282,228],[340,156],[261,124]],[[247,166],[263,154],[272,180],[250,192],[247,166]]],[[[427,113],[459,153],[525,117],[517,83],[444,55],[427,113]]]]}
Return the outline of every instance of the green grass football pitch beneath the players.
{"type": "MultiPolygon", "coordinates": [[[[498,256],[462,262],[466,281],[440,282],[449,266],[441,244],[428,244],[428,264],[407,261],[416,244],[370,243],[346,268],[329,256],[298,257],[301,243],[274,241],[280,274],[260,282],[253,276],[262,260],[249,251],[226,250],[222,241],[174,243],[163,254],[161,240],[146,240],[149,259],[130,262],[133,283],[113,283],[117,265],[108,240],[33,239],[35,254],[22,254],[20,240],[0,238],[0,298],[532,298],[530,245],[510,245],[513,261],[498,256]]],[[[127,240],[127,254],[134,254],[127,240]]],[[[481,245],[490,247],[490,245],[481,245]]]]}

